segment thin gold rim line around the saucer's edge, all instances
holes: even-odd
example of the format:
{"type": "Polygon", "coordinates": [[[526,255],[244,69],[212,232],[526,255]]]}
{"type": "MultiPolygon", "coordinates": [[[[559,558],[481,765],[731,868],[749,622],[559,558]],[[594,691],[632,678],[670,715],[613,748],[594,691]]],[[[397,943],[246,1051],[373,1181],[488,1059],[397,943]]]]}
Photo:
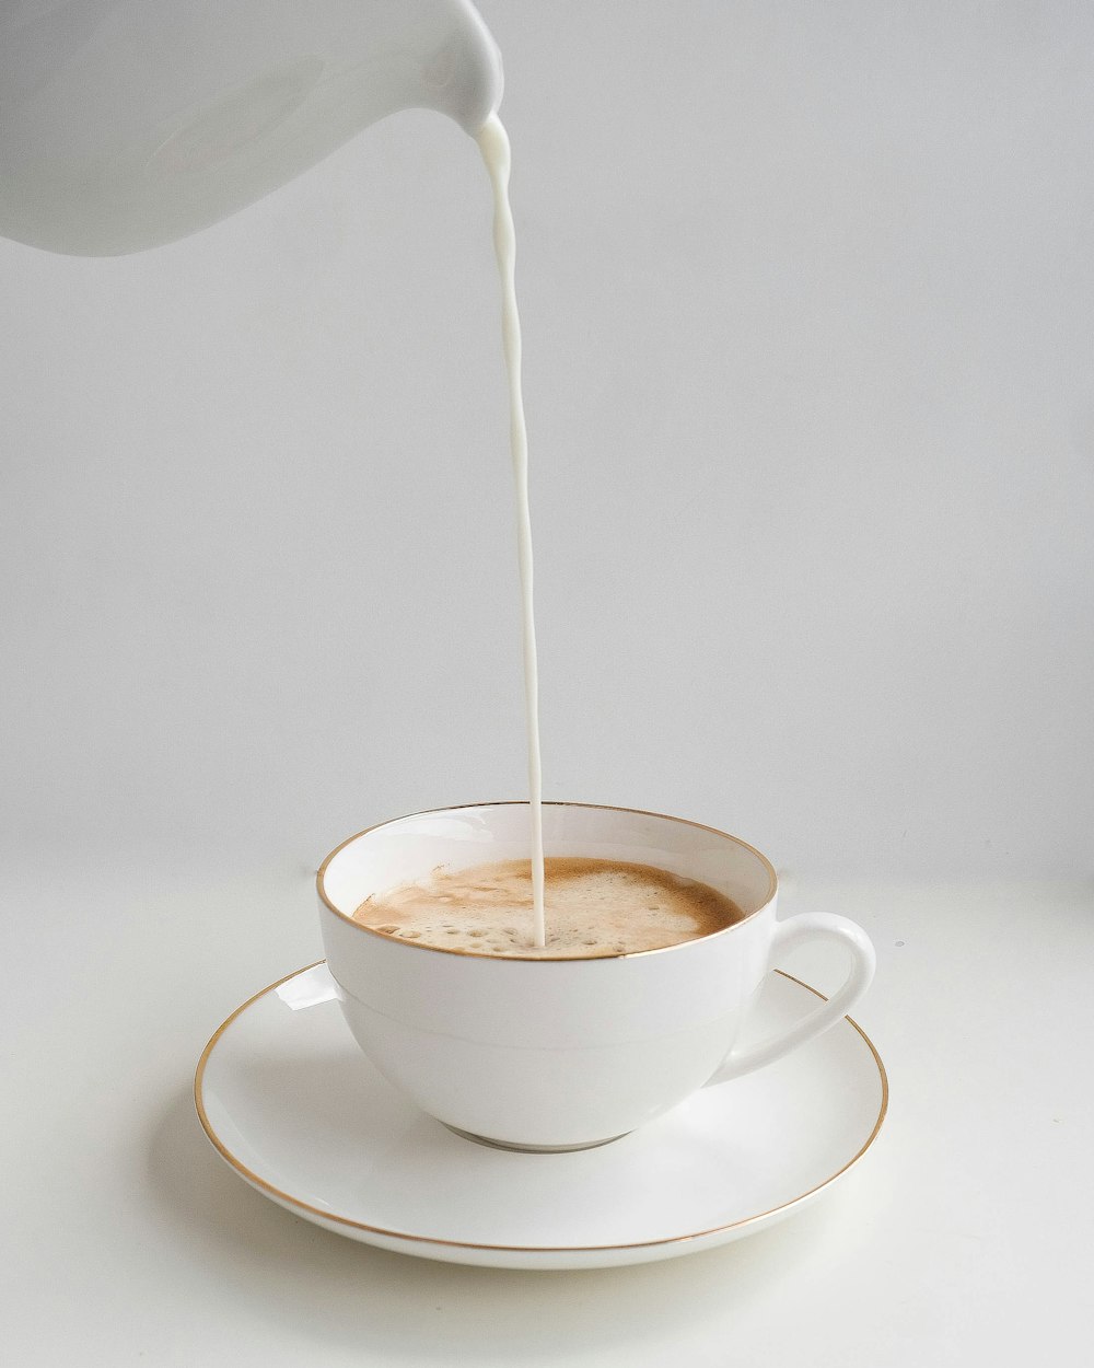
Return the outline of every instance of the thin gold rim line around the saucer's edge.
{"type": "MultiPolygon", "coordinates": [[[[306,974],[308,970],[316,969],[316,966],[323,963],[325,963],[325,960],[317,959],[315,963],[305,964],[304,969],[297,969],[291,974],[286,974],[284,978],[279,978],[275,984],[269,984],[267,988],[260,989],[245,1003],[241,1003],[239,1007],[237,1007],[235,1011],[231,1014],[231,1016],[228,1016],[226,1021],[220,1023],[220,1026],[217,1026],[217,1029],[209,1038],[208,1045],[201,1052],[201,1059],[198,1059],[197,1062],[197,1070],[194,1071],[194,1107],[197,1108],[197,1115],[198,1120],[201,1122],[201,1127],[209,1137],[213,1149],[216,1149],[220,1157],[227,1164],[230,1164],[230,1167],[232,1167],[242,1178],[245,1178],[246,1182],[249,1182],[253,1187],[257,1187],[260,1192],[268,1193],[271,1197],[275,1197],[278,1201],[286,1202],[290,1208],[295,1208],[297,1211],[306,1211],[315,1216],[320,1216],[323,1220],[330,1220],[338,1226],[346,1226],[350,1230],[362,1230],[366,1234],[382,1235],[386,1239],[398,1239],[414,1245],[436,1245],[444,1249],[476,1249],[487,1253],[499,1253],[499,1254],[598,1254],[598,1253],[622,1252],[626,1249],[656,1249],[663,1245],[682,1245],[693,1239],[708,1239],[712,1235],[722,1235],[729,1230],[740,1230],[744,1226],[753,1226],[758,1222],[767,1220],[769,1218],[782,1212],[788,1212],[792,1208],[800,1205],[801,1202],[808,1201],[810,1197],[815,1197],[816,1193],[822,1192],[825,1187],[834,1183],[837,1178],[842,1178],[842,1175],[849,1168],[857,1164],[857,1161],[863,1157],[867,1149],[870,1149],[870,1146],[878,1138],[878,1131],[881,1130],[882,1122],[885,1120],[885,1114],[889,1111],[889,1075],[885,1073],[885,1064],[881,1060],[881,1055],[874,1047],[874,1041],[866,1034],[862,1026],[856,1021],[852,1021],[851,1016],[845,1016],[844,1021],[849,1026],[853,1026],[855,1030],[859,1033],[859,1036],[862,1036],[863,1041],[866,1041],[866,1045],[870,1049],[870,1053],[872,1055],[874,1063],[877,1064],[878,1068],[878,1077],[881,1079],[881,1107],[878,1109],[878,1119],[874,1122],[874,1127],[870,1131],[866,1144],[862,1146],[862,1149],[857,1150],[857,1153],[852,1159],[849,1159],[842,1166],[842,1168],[837,1168],[834,1174],[826,1178],[822,1183],[818,1183],[815,1187],[810,1187],[808,1192],[800,1193],[797,1197],[792,1197],[789,1201],[781,1202],[778,1207],[771,1207],[770,1211],[758,1212],[755,1216],[745,1216],[743,1220],[732,1220],[725,1226],[712,1226],[710,1230],[696,1230],[686,1235],[666,1235],[661,1239],[639,1239],[624,1245],[479,1245],[465,1239],[443,1239],[438,1235],[414,1235],[410,1234],[409,1231],[402,1231],[402,1230],[386,1230],[383,1226],[371,1226],[364,1220],[354,1220],[351,1216],[339,1216],[336,1212],[324,1211],[321,1207],[313,1207],[310,1202],[301,1201],[299,1197],[294,1197],[291,1193],[282,1192],[280,1187],[275,1187],[274,1183],[267,1182],[265,1178],[260,1178],[258,1174],[256,1174],[252,1168],[248,1168],[248,1166],[241,1159],[237,1159],[237,1156],[232,1155],[232,1152],[228,1149],[224,1141],[213,1130],[213,1124],[209,1120],[208,1112],[205,1111],[205,1100],[201,1092],[201,1085],[205,1075],[205,1066],[208,1064],[209,1056],[216,1048],[216,1042],[220,1040],[224,1031],[232,1025],[232,1022],[238,1016],[242,1016],[242,1014],[249,1007],[257,1003],[260,997],[265,997],[267,993],[272,993],[275,989],[280,988],[282,984],[287,984],[290,978],[297,978],[299,974],[306,974]]],[[[792,984],[797,984],[799,988],[808,989],[808,992],[814,993],[822,1001],[825,1003],[827,1001],[827,997],[816,988],[814,988],[811,984],[805,984],[803,979],[795,978],[793,974],[788,974],[782,969],[777,969],[774,973],[779,974],[782,978],[789,978],[789,981],[792,984]]]]}

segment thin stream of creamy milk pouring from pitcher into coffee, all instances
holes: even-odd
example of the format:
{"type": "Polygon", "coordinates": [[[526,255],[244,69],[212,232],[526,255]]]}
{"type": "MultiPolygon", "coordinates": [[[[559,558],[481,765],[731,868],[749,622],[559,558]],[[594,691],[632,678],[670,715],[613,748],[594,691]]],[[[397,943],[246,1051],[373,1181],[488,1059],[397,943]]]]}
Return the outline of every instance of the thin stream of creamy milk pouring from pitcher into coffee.
{"type": "Polygon", "coordinates": [[[517,312],[517,234],[509,205],[509,135],[496,114],[483,124],[479,148],[494,186],[494,250],[502,279],[502,343],[509,372],[509,439],[517,486],[517,553],[524,602],[524,711],[528,731],[528,802],[532,817],[532,938],[547,943],[543,910],[543,773],[539,754],[539,670],[532,607],[532,514],[528,508],[528,428],[521,394],[521,319],[517,312]]]}

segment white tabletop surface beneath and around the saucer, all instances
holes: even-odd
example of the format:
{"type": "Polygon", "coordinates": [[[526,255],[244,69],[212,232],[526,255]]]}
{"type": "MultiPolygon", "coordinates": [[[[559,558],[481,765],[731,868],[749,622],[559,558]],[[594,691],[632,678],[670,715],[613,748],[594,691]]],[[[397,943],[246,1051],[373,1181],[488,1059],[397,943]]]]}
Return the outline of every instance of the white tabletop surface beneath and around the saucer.
{"type": "MultiPolygon", "coordinates": [[[[191,1075],[319,958],[309,873],[27,866],[4,882],[4,1358],[36,1364],[1076,1364],[1094,1275],[1091,889],[784,885],[878,949],[886,1124],[752,1238],[596,1272],[473,1270],[245,1186],[191,1075]]],[[[837,967],[788,962],[819,988],[837,967]]]]}

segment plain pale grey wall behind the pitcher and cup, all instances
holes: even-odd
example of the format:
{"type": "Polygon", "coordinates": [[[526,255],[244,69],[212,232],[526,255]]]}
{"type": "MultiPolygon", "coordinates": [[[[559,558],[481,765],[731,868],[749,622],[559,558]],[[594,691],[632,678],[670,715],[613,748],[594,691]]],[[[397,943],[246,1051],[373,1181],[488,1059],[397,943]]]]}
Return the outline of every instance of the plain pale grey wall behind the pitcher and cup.
{"type": "MultiPolygon", "coordinates": [[[[546,795],[795,871],[1090,871],[1094,19],[484,5],[546,795]]],[[[310,867],[525,791],[490,193],[432,114],[0,242],[5,841],[310,867]]]]}

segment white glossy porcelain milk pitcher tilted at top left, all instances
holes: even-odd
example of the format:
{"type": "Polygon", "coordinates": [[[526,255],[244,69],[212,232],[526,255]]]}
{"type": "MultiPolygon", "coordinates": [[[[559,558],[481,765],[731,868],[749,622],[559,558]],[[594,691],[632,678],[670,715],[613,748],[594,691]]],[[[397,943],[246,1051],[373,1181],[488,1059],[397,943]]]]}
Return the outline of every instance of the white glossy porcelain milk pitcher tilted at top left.
{"type": "Polygon", "coordinates": [[[159,246],[390,114],[475,134],[501,97],[469,0],[23,0],[0,11],[0,234],[159,246]]]}

